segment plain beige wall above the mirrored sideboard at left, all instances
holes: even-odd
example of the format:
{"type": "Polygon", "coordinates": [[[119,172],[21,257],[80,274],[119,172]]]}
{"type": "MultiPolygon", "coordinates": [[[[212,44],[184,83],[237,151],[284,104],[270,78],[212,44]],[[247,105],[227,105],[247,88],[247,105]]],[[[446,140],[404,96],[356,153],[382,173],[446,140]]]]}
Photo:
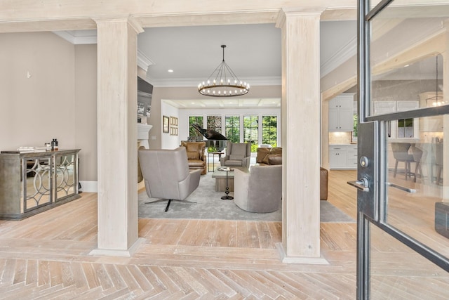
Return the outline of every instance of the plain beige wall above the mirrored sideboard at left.
{"type": "Polygon", "coordinates": [[[0,34],[0,45],[0,149],[75,148],[74,45],[51,32],[0,34]]]}

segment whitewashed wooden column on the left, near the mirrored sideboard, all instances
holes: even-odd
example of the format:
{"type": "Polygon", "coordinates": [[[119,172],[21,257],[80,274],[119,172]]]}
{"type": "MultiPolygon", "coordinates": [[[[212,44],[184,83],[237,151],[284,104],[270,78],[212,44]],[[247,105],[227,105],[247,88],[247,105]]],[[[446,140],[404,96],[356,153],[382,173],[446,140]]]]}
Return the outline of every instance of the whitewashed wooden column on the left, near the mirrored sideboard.
{"type": "Polygon", "coordinates": [[[98,249],[130,256],[138,246],[137,34],[128,18],[98,27],[98,249]]]}

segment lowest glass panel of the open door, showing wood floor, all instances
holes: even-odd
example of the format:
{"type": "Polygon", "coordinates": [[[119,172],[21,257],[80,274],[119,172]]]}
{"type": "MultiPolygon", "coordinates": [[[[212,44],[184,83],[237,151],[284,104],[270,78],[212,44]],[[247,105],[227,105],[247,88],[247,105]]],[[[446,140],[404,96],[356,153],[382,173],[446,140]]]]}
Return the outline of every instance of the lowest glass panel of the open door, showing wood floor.
{"type": "Polygon", "coordinates": [[[448,273],[370,224],[370,299],[448,299],[448,273]]]}

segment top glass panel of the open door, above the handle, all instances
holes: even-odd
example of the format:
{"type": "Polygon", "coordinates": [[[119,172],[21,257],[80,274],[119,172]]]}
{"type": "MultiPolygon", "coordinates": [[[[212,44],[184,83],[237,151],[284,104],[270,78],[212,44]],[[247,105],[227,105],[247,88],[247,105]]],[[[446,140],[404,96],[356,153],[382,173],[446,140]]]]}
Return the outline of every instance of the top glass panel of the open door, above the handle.
{"type": "MultiPolygon", "coordinates": [[[[448,95],[443,95],[444,65],[448,64],[441,55],[449,5],[401,4],[384,8],[370,22],[371,116],[449,104],[448,95]]],[[[403,138],[410,136],[407,127],[399,128],[403,138]]]]}

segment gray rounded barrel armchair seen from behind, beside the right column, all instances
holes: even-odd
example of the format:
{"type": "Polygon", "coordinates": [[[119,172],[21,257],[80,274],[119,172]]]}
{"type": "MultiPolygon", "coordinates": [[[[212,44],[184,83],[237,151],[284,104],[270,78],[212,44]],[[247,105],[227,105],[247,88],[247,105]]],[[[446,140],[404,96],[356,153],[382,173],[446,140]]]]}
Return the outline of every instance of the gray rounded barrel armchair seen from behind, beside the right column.
{"type": "Polygon", "coordinates": [[[234,169],[234,203],[243,210],[266,213],[281,208],[282,165],[234,169]]]}

